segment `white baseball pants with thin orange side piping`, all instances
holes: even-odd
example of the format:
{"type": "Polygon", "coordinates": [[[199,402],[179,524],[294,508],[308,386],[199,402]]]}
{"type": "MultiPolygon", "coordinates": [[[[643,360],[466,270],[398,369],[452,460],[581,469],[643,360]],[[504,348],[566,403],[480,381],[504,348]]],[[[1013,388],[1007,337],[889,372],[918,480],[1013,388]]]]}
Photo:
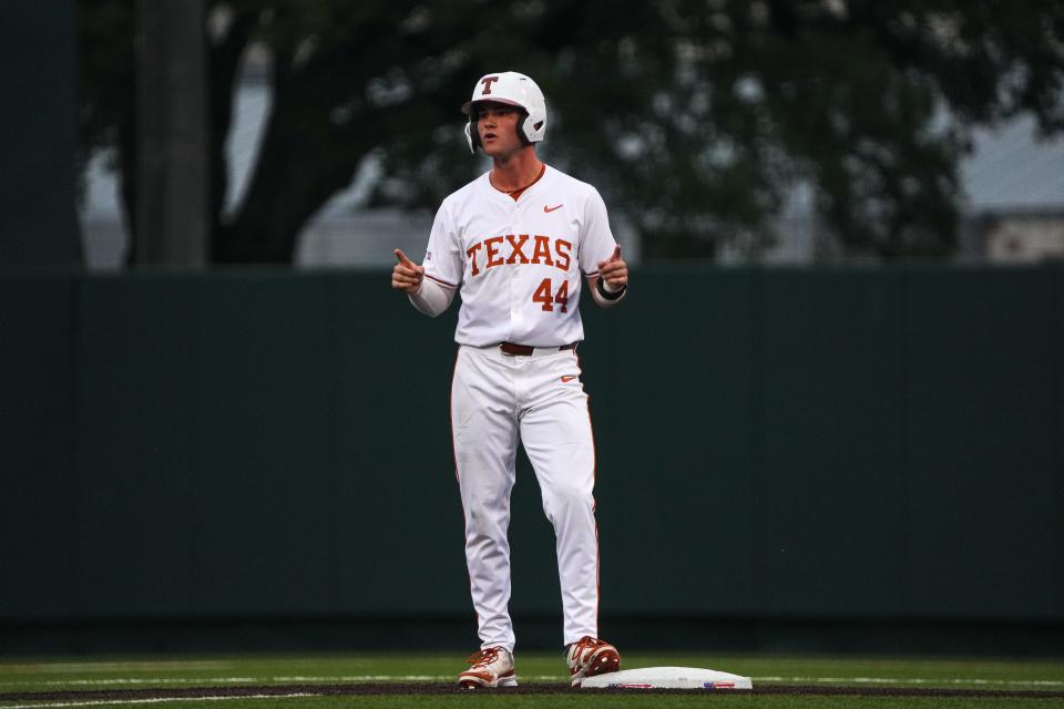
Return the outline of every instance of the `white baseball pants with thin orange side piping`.
{"type": "Polygon", "coordinates": [[[505,354],[461,346],[451,384],[454,464],[466,514],[466,563],[481,647],[513,651],[510,492],[518,441],[554,525],[565,645],[598,636],[595,450],[573,350],[505,354]]]}

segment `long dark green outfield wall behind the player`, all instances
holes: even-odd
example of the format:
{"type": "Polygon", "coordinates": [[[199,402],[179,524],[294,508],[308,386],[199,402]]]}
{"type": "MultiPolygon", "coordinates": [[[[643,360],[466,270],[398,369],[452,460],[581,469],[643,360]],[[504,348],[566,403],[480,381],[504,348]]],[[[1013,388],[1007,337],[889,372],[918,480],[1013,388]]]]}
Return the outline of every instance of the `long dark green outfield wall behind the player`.
{"type": "MultiPolygon", "coordinates": [[[[604,615],[1064,621],[1064,269],[645,268],[584,304],[604,615]]],[[[470,615],[456,309],[0,278],[0,623],[470,615]]],[[[520,459],[516,613],[560,606],[520,459]]]]}

